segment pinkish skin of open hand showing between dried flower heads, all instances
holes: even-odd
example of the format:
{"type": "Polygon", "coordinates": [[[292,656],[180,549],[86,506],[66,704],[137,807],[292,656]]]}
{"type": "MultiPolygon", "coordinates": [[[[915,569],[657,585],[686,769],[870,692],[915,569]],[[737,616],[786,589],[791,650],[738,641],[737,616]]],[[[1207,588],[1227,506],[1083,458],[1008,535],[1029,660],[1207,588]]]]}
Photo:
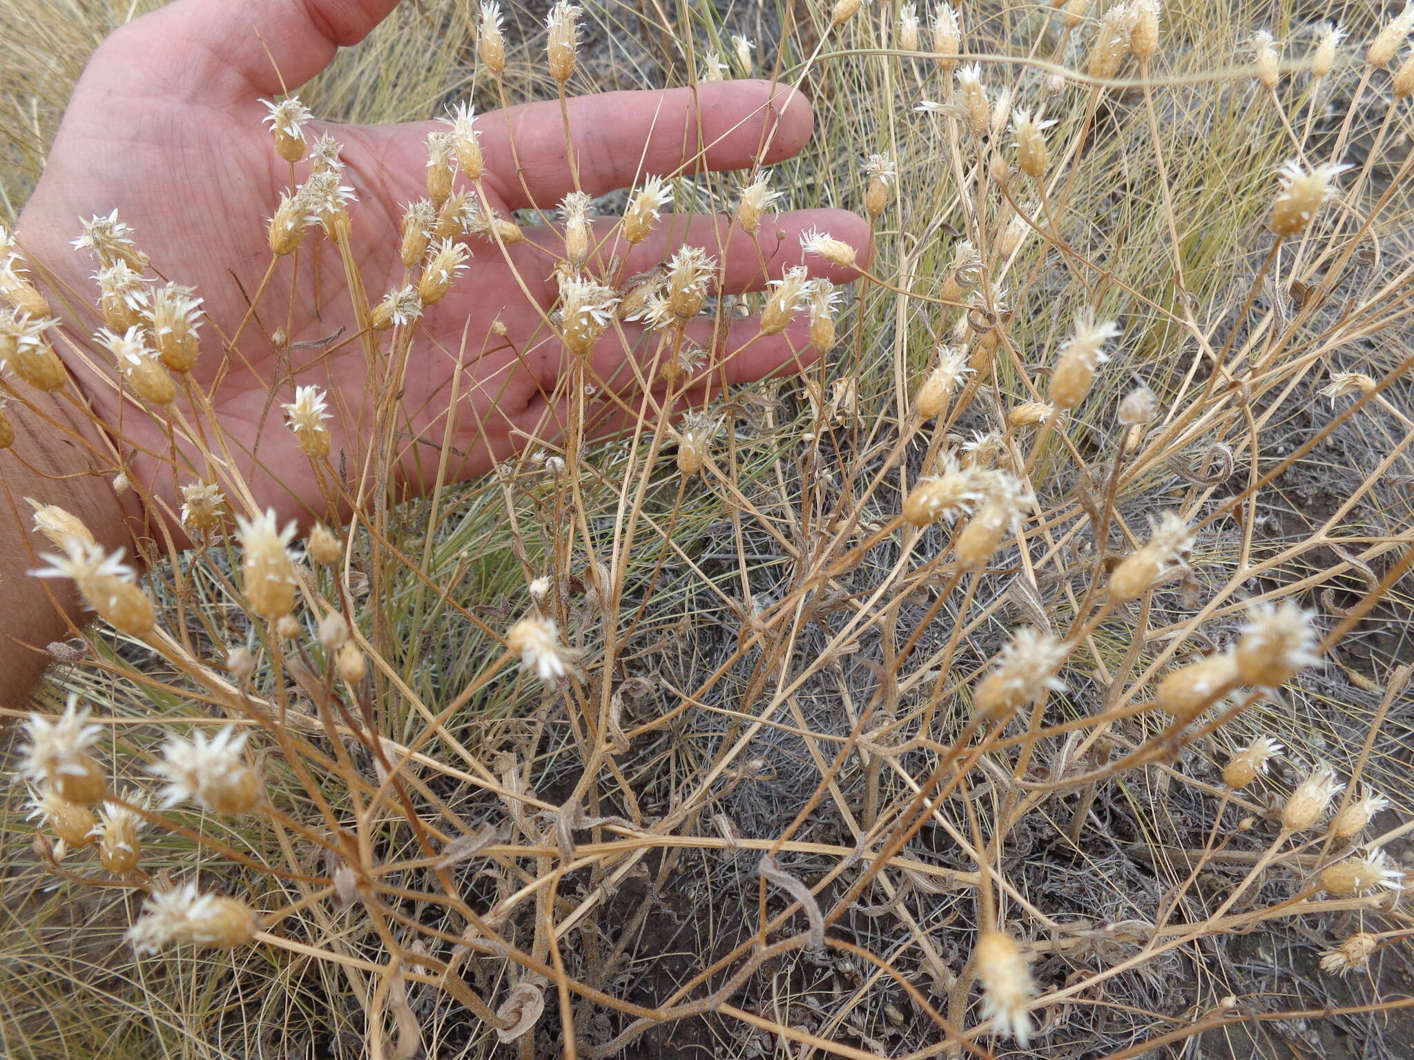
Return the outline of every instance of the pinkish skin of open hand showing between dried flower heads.
{"type": "MultiPolygon", "coordinates": [[[[361,343],[348,341],[358,328],[337,247],[312,228],[305,249],[277,263],[257,305],[259,319],[242,331],[238,352],[222,358],[222,336],[230,338],[240,325],[247,298],[270,266],[264,219],[291,182],[288,164],[276,155],[262,124],[260,99],[281,90],[281,76],[290,88],[307,81],[337,47],[361,40],[392,6],[386,0],[178,0],[124,27],[85,71],[45,178],[20,222],[25,250],[51,280],[54,302],[78,336],[98,326],[88,308],[95,290],[92,264],[68,245],[79,218],[119,208],[151,254],[153,271],[198,288],[208,325],[194,379],[211,387],[221,373],[212,401],[222,430],[233,449],[243,452],[247,465],[240,471],[257,502],[273,505],[281,517],[307,516],[311,507],[322,507],[322,499],[312,469],[280,421],[277,403],[290,400],[296,383],[327,387],[334,459],[342,452],[349,473],[356,475],[376,394],[365,387],[361,343]],[[98,158],[105,160],[102,167],[95,165],[98,158]],[[317,266],[312,256],[320,259],[317,266]],[[291,351],[286,365],[267,336],[287,325],[294,343],[344,332],[327,348],[291,351]]],[[[807,102],[768,82],[577,98],[568,113],[580,184],[595,195],[645,175],[749,167],[762,144],[761,161],[771,164],[799,151],[812,127],[807,102]]],[[[488,165],[484,191],[493,209],[534,208],[549,216],[574,189],[559,103],[482,114],[477,124],[488,165]]],[[[402,211],[426,194],[426,137],[440,127],[423,122],[311,123],[307,129],[311,143],[328,131],[344,146],[345,182],[358,195],[351,208],[354,260],[373,301],[404,283],[397,254],[402,211]]],[[[296,179],[305,172],[307,164],[300,163],[296,179]]],[[[628,249],[611,222],[600,220],[601,246],[591,266],[608,276],[624,257],[612,276],[626,277],[686,243],[724,256],[724,293],[761,290],[785,267],[800,263],[797,236],[809,228],[827,229],[855,246],[867,240],[864,222],[843,211],[766,218],[759,245],[731,232],[724,219],[665,215],[653,236],[628,249]]],[[[526,235],[526,243],[505,253],[495,243],[469,239],[467,271],[420,321],[402,393],[409,417],[402,471],[414,486],[436,472],[437,449],[421,451],[413,440],[440,445],[458,363],[462,377],[455,391],[464,404],[455,410],[451,444],[460,455],[451,473],[482,472],[532,438],[551,441],[566,421],[566,355],[544,325],[556,297],[560,239],[553,226],[526,235]],[[493,324],[496,331],[503,326],[503,336],[492,331],[493,324]]],[[[834,281],[850,278],[847,270],[812,264],[834,281]]],[[[740,351],[724,372],[713,373],[714,380],[728,383],[793,370],[813,356],[803,324],[766,338],[758,335],[755,321],[734,321],[730,334],[714,336],[711,319],[703,318],[689,334],[700,345],[715,338],[720,352],[740,351]]],[[[611,328],[594,352],[595,372],[629,394],[629,408],[642,399],[632,397],[636,376],[625,365],[626,351],[656,348],[653,336],[642,338],[636,325],[611,328]]],[[[106,380],[85,377],[78,366],[75,372],[99,417],[154,454],[134,457],[134,472],[175,510],[171,471],[156,455],[168,447],[160,423],[147,421],[132,406],[124,408],[106,380]]],[[[694,387],[679,404],[704,396],[703,387],[694,387]]],[[[660,404],[663,396],[659,391],[649,400],[660,404]]],[[[601,394],[590,424],[602,434],[633,418],[622,403],[601,394]]]]}

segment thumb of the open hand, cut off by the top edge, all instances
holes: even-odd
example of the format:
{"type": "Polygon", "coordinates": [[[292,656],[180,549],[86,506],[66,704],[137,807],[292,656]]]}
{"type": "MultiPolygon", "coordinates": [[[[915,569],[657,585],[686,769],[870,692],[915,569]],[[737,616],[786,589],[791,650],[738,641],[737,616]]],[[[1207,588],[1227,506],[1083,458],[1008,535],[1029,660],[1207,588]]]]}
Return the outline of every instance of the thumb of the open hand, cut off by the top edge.
{"type": "Polygon", "coordinates": [[[115,33],[85,72],[102,92],[206,103],[294,90],[397,0],[177,0],[115,33]]]}

